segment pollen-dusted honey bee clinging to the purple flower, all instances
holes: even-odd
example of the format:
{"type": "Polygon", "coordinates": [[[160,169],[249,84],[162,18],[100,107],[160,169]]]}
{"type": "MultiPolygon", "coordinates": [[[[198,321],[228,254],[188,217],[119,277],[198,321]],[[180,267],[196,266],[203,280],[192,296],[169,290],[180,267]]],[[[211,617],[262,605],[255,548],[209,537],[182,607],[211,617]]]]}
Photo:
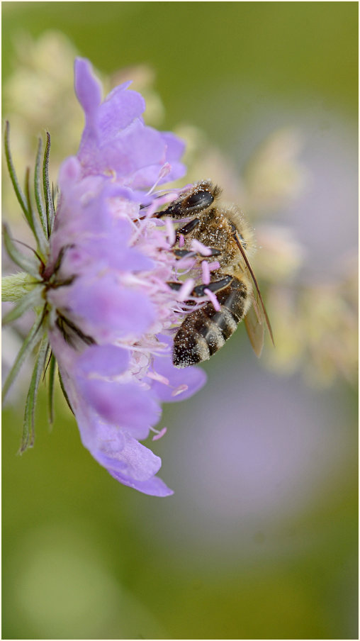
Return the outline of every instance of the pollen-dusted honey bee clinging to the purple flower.
{"type": "MultiPolygon", "coordinates": [[[[175,367],[189,367],[209,359],[235,332],[242,319],[257,356],[261,355],[264,344],[265,324],[274,343],[257,279],[249,262],[255,251],[252,229],[236,206],[222,208],[218,205],[220,194],[219,186],[203,180],[183,191],[178,199],[156,214],[157,218],[190,218],[176,230],[174,253],[177,257],[194,255],[191,247],[192,241],[196,240],[210,250],[210,255],[202,255],[201,261],[214,260],[215,257],[219,264],[218,269],[208,276],[208,284],[199,284],[191,292],[192,296],[215,294],[215,305],[209,301],[184,318],[174,337],[172,357],[175,367]]],[[[179,282],[168,284],[173,289],[181,286],[179,282]]]]}

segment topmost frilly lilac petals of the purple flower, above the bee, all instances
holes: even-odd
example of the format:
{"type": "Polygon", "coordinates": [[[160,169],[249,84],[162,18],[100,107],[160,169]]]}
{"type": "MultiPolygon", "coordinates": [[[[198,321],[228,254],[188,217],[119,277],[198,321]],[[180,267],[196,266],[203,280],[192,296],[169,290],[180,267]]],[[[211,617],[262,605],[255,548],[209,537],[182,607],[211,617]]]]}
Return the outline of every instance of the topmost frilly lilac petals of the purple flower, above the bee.
{"type": "Polygon", "coordinates": [[[128,84],[113,89],[101,104],[101,90],[89,62],[77,59],[75,88],[86,115],[77,156],[84,175],[115,172],[122,184],[145,189],[157,182],[162,167],[171,161],[169,174],[159,182],[181,177],[184,143],[169,132],[145,126],[141,118],[145,101],[128,90],[128,84]]]}

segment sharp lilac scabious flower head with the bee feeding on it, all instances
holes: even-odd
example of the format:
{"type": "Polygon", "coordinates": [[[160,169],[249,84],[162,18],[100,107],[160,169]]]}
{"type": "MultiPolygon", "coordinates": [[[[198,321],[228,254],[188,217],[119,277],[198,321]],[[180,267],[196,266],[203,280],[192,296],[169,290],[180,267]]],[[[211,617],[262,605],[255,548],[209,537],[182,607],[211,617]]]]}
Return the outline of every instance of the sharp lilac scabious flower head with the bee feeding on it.
{"type": "MultiPolygon", "coordinates": [[[[42,225],[20,194],[38,239],[38,251],[29,259],[35,286],[26,290],[28,303],[22,304],[41,309],[26,340],[32,348],[43,337],[33,392],[51,350],[50,371],[56,359],[91,455],[121,483],[167,496],[171,490],[155,476],[161,460],[139,441],[150,430],[155,439],[164,433],[154,429],[162,401],[186,398],[205,382],[201,369],[179,370],[171,362],[169,330],[181,322],[189,286],[185,280],[175,293],[167,285],[179,274],[171,250],[174,229],[152,217],[174,198],[162,193],[155,199],[154,189],[184,175],[184,144],[145,126],[145,102],[129,84],[116,87],[102,102],[89,62],[75,62],[85,126],[77,155],[60,168],[56,214],[48,182],[46,216],[38,204],[42,225]]],[[[47,156],[48,149],[45,169],[47,156]]],[[[6,241],[16,260],[7,232],[6,241]]],[[[25,267],[23,258],[17,262],[25,267]]],[[[31,423],[35,396],[29,394],[26,421],[31,423]]]]}

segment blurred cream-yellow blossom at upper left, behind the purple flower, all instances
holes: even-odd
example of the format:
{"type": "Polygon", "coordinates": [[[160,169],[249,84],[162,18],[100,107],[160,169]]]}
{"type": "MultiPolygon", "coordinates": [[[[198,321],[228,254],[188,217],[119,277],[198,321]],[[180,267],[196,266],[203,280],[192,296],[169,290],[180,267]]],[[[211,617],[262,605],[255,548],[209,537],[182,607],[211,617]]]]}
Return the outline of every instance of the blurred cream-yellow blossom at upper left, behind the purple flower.
{"type": "MultiPolygon", "coordinates": [[[[34,163],[34,138],[45,130],[59,131],[61,135],[53,135],[51,150],[52,172],[56,176],[64,157],[77,151],[84,123],[74,94],[77,51],[59,31],[47,31],[37,40],[21,33],[14,47],[13,72],[3,88],[4,113],[11,115],[14,164],[22,176],[24,168],[34,163]]],[[[9,181],[4,186],[6,209],[11,214],[13,195],[9,181]]]]}

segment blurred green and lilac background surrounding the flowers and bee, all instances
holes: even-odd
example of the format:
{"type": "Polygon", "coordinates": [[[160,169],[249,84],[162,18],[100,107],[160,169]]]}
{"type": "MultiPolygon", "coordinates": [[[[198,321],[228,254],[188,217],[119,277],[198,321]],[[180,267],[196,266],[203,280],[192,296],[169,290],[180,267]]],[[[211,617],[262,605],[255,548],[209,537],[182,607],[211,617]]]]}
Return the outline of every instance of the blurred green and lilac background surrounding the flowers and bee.
{"type": "MultiPolygon", "coordinates": [[[[14,38],[56,29],[101,72],[151,65],[162,128],[201,128],[239,170],[276,127],[304,130],[311,188],[281,222],[310,248],[310,279],[354,247],[357,3],[2,9],[4,82],[14,38]]],[[[164,408],[167,499],[116,484],[60,395],[52,433],[40,396],[35,447],[16,456],[23,395],[7,406],[4,638],[357,637],[356,386],[274,374],[243,330],[205,369],[203,391],[164,408]]]]}

